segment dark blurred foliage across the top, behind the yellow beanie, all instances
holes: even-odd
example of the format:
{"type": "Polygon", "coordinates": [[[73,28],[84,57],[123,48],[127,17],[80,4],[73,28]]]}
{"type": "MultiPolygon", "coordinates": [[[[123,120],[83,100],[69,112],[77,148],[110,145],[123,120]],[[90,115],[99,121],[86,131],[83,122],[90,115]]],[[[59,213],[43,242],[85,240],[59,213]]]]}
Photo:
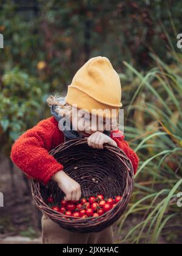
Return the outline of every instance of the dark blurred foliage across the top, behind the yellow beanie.
{"type": "Polygon", "coordinates": [[[95,55],[106,55],[120,71],[123,60],[146,69],[151,49],[170,61],[164,28],[176,43],[180,18],[180,1],[4,1],[0,70],[18,63],[57,91],[66,88],[78,66],[95,55]],[[46,64],[41,70],[40,61],[46,64]]]}

